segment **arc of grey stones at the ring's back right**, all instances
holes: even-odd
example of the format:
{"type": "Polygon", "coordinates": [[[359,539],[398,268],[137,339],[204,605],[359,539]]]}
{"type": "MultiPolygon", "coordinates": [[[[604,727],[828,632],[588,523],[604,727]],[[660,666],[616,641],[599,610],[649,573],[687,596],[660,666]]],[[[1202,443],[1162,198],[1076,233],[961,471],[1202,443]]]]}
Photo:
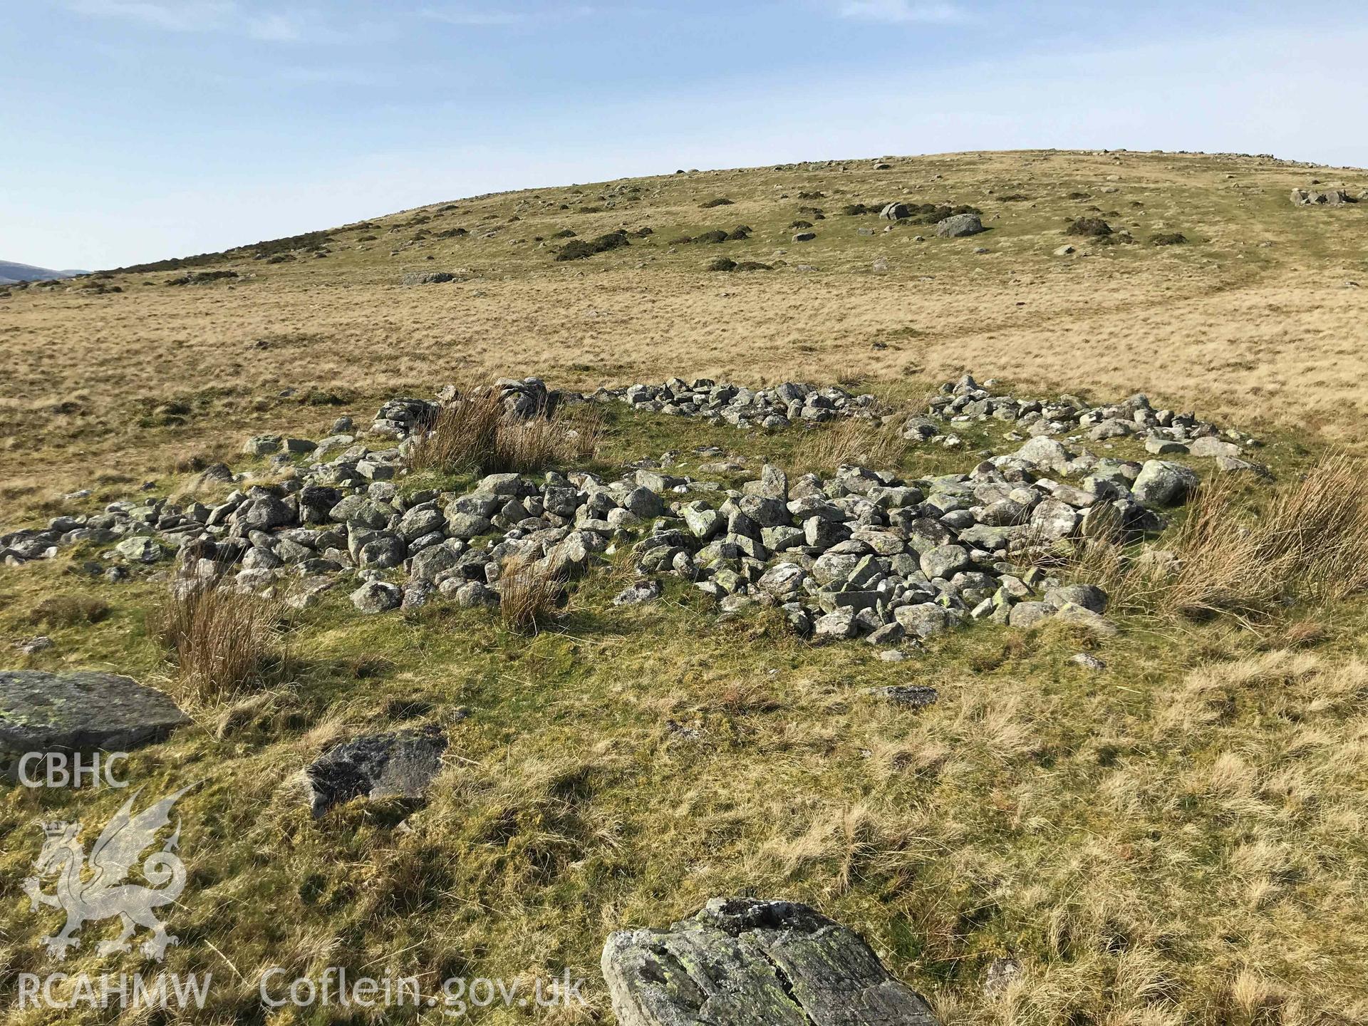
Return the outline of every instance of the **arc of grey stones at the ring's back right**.
{"type": "Polygon", "coordinates": [[[1077,395],[1037,399],[995,394],[992,384],[979,384],[970,375],[947,382],[925,415],[910,417],[903,424],[903,438],[955,447],[959,445],[955,424],[996,420],[1012,425],[1014,434],[1008,438],[1066,435],[1090,442],[1137,438],[1144,439],[1145,450],[1153,456],[1190,453],[1213,457],[1222,471],[1263,472],[1259,464],[1244,458],[1249,449],[1257,447],[1256,438],[1223,431],[1193,413],[1156,410],[1144,394],[1094,406],[1077,395]]]}

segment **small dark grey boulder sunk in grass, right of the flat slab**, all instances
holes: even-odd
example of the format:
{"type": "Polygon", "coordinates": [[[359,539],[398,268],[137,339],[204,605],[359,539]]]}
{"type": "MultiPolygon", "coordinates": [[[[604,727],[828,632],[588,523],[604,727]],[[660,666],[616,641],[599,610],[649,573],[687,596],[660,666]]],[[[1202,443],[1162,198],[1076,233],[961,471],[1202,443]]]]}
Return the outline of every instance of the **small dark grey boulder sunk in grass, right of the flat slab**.
{"type": "Polygon", "coordinates": [[[353,798],[423,798],[442,769],[446,735],[434,724],[361,735],[320,755],[305,772],[313,815],[353,798]]]}

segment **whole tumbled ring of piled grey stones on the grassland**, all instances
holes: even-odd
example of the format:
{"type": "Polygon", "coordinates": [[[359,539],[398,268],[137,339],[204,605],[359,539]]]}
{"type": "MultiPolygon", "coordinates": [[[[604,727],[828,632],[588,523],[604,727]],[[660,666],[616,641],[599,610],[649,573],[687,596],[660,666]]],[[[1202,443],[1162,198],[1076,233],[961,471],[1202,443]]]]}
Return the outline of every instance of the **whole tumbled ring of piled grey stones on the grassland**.
{"type": "MultiPolygon", "coordinates": [[[[538,384],[501,387],[508,402],[531,409],[553,401],[538,384]]],[[[670,394],[680,393],[672,387],[670,394]]],[[[813,395],[836,402],[829,390],[773,391],[776,401],[803,410],[813,395]]],[[[862,398],[845,395],[847,406],[866,408],[862,398]]],[[[1099,458],[1052,434],[1086,427],[1089,434],[1105,428],[1100,436],[1111,438],[1108,425],[1126,424],[1189,451],[1220,442],[1212,425],[1150,410],[1142,399],[1101,408],[1068,397],[1021,401],[989,395],[964,378],[932,404],[936,423],[1001,417],[1026,427],[1029,438],[1018,435],[1025,443],[1016,451],[960,475],[904,480],[847,465],[828,479],[804,475],[791,483],[780,468],[765,466],[757,480],[726,488],[715,479],[640,466],[617,480],[590,472],[495,473],[466,494],[405,494],[395,477],[435,405],[401,398],[382,408],[369,442],[349,434],[345,419],[317,442],[250,439],[248,451],[274,451],[291,465],[294,476],[283,482],[253,484],[215,465],[204,482],[239,486],[220,501],[114,502],[97,514],[56,517],[45,528],[0,536],[0,557],[16,564],[90,542],[109,549],[103,564],[89,561],[86,569],[111,580],[140,566],[172,577],[174,558],[179,588],[226,584],[302,607],[345,586],[358,610],[382,613],[439,598],[495,605],[513,560],[569,580],[633,546],[640,580],[618,605],[657,599],[661,577],[676,576],[715,598],[724,614],[776,606],[798,632],[819,639],[896,644],[973,620],[1031,625],[1052,616],[1104,629],[1107,596],[1030,569],[1040,564],[1036,557],[1066,539],[1157,532],[1163,510],[1185,502],[1198,479],[1168,460],[1099,458]],[[376,438],[383,447],[372,447],[376,438]]],[[[911,423],[908,431],[923,436],[911,423]]],[[[698,472],[737,469],[703,464],[698,472]]]]}

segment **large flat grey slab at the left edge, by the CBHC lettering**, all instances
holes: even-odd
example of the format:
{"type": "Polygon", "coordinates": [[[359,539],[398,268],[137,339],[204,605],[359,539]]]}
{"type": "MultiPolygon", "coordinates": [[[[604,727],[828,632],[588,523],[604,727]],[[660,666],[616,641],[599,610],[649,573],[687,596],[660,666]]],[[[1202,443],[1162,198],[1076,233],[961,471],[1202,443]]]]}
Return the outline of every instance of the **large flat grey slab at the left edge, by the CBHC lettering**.
{"type": "Polygon", "coordinates": [[[127,751],[189,722],[160,691],[118,673],[0,670],[0,752],[127,751]]]}

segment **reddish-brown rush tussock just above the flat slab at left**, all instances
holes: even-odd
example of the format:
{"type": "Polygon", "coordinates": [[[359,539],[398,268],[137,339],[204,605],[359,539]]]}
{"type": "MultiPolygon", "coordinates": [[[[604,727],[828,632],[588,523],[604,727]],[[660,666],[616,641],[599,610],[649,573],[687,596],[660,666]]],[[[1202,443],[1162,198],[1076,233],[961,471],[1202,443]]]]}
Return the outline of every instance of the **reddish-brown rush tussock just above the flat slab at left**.
{"type": "Polygon", "coordinates": [[[202,703],[259,691],[285,666],[283,605],[207,583],[172,588],[149,614],[148,632],[167,650],[182,688],[202,703]]]}

